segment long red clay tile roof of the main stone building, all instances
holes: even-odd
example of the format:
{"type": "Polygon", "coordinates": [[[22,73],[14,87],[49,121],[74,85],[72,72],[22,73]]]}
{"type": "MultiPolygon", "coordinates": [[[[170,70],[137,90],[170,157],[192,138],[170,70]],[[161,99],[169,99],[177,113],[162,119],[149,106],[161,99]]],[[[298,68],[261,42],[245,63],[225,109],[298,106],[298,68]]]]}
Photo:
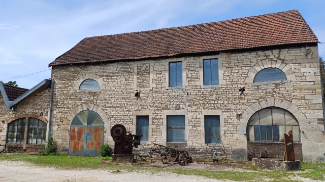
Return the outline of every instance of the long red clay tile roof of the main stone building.
{"type": "Polygon", "coordinates": [[[49,66],[317,42],[316,35],[301,14],[293,10],[183,27],[88,37],[49,66]]]}

